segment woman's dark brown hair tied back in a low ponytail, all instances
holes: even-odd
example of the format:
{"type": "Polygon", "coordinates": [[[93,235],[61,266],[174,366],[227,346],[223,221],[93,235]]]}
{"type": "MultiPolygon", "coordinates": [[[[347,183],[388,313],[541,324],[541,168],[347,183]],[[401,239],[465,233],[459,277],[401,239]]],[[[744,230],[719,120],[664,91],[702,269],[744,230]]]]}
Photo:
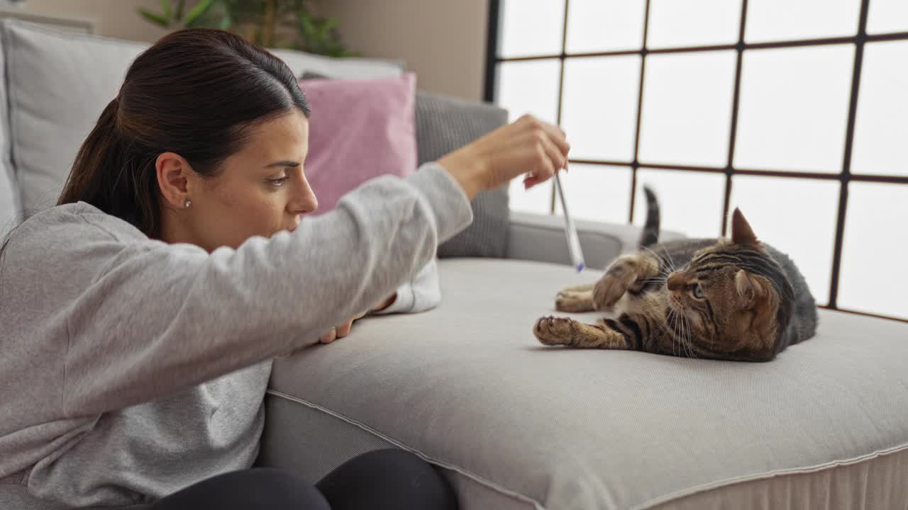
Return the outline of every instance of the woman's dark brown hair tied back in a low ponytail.
{"type": "Polygon", "coordinates": [[[293,108],[309,116],[290,68],[262,48],[220,30],[166,35],[130,65],[57,204],[85,201],[156,237],[159,154],[176,152],[212,177],[251,127],[293,108]]]}

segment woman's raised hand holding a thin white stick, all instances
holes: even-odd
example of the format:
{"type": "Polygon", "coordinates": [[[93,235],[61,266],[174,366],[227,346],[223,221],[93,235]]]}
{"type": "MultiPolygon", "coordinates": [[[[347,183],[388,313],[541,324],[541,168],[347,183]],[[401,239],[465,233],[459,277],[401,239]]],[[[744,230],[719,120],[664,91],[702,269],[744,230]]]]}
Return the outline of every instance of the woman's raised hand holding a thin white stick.
{"type": "Polygon", "coordinates": [[[473,200],[479,191],[494,190],[518,175],[527,174],[527,188],[548,181],[567,167],[569,150],[558,126],[524,115],[449,153],[439,164],[473,200]]]}

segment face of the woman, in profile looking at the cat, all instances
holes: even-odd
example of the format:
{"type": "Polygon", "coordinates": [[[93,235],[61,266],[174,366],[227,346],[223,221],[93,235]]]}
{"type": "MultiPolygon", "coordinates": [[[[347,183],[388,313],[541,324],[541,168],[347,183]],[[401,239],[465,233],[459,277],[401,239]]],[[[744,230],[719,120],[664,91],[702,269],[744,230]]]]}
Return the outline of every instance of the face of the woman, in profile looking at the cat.
{"type": "Polygon", "coordinates": [[[309,122],[294,109],[252,128],[242,150],[222,162],[216,177],[189,172],[192,205],[175,211],[184,220],[180,237],[188,237],[181,241],[212,251],[295,230],[302,215],[319,207],[303,172],[308,150],[309,122]]]}

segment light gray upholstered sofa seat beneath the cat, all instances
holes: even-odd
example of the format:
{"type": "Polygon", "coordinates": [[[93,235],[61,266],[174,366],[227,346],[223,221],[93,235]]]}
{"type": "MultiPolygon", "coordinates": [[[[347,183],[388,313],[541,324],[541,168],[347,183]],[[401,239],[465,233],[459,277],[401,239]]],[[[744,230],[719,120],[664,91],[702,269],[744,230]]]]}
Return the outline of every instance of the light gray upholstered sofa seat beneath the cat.
{"type": "Polygon", "coordinates": [[[600,273],[463,259],[439,271],[438,309],[364,320],[275,363],[269,412],[284,408],[270,416],[294,426],[266,424],[263,461],[306,463],[296,441],[311,458],[337,452],[314,475],[380,438],[538,508],[908,504],[902,323],[821,310],[817,336],[768,363],[546,348],[534,320],[600,273]],[[334,425],[305,427],[294,407],[334,425]],[[831,484],[851,488],[826,500],[831,484]]]}

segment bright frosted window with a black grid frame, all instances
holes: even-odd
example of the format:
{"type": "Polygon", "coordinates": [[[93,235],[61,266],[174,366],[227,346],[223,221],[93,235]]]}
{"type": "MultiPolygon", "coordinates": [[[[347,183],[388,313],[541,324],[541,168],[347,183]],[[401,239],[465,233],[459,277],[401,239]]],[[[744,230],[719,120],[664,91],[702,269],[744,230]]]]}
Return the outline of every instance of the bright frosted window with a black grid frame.
{"type": "MultiPolygon", "coordinates": [[[[830,309],[908,320],[908,2],[491,0],[486,99],[572,143],[578,218],[725,235],[740,206],[830,309]]],[[[560,214],[551,184],[511,207],[560,214]]]]}

